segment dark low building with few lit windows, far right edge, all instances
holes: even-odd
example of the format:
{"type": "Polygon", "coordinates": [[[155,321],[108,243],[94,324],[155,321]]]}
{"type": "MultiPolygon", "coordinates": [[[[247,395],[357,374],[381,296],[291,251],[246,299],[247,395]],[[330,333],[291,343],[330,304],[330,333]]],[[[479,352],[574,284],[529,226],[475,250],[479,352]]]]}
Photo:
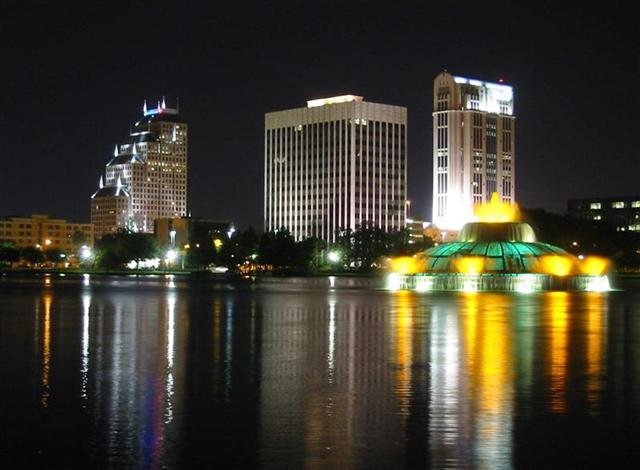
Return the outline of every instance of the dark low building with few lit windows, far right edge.
{"type": "Polygon", "coordinates": [[[640,196],[571,199],[568,208],[571,217],[640,232],[640,196]]]}

